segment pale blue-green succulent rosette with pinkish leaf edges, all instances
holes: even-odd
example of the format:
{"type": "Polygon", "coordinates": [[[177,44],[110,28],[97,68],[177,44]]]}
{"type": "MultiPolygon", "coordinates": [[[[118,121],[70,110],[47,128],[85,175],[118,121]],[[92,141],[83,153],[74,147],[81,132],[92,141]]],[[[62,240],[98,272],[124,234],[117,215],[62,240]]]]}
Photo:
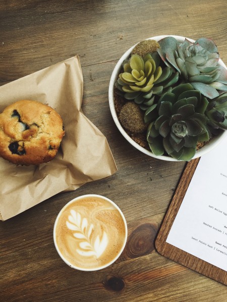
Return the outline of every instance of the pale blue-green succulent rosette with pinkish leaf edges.
{"type": "Polygon", "coordinates": [[[214,99],[218,91],[227,91],[227,70],[219,65],[217,47],[211,39],[179,42],[174,37],[165,37],[159,45],[157,52],[163,62],[179,71],[180,77],[201,94],[214,99]]]}

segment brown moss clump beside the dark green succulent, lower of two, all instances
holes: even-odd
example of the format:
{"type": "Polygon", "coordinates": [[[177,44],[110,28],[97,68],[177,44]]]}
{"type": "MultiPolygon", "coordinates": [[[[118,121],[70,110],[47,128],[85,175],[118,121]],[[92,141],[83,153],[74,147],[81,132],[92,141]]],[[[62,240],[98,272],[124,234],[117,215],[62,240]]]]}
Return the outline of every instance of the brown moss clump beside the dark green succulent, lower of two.
{"type": "Polygon", "coordinates": [[[119,120],[123,127],[134,133],[142,133],[147,128],[142,110],[134,102],[127,102],[122,107],[119,120]]]}

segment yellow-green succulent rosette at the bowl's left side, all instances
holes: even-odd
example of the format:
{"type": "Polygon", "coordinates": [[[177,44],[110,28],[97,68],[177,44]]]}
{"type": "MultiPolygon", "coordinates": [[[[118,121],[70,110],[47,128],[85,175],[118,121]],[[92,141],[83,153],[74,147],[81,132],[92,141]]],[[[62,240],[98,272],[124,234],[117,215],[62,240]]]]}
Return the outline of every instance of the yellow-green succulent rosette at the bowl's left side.
{"type": "Polygon", "coordinates": [[[141,109],[146,110],[154,102],[154,95],[171,91],[179,79],[179,72],[172,67],[161,68],[157,52],[144,57],[133,54],[124,60],[124,72],[119,74],[116,88],[127,100],[134,100],[141,109]]]}

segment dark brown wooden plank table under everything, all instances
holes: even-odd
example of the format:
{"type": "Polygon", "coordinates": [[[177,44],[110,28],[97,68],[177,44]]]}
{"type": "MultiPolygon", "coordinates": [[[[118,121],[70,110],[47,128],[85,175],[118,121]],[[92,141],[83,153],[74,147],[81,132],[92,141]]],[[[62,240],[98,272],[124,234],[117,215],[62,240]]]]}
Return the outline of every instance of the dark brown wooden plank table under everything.
{"type": "Polygon", "coordinates": [[[140,153],[123,138],[108,106],[113,68],[129,47],[145,38],[210,37],[226,64],[226,19],[224,0],[0,0],[0,84],[79,54],[83,111],[106,136],[118,166],[111,177],[52,196],[1,221],[1,301],[227,300],[226,286],[164,258],[154,248],[185,163],[140,153]],[[60,209],[87,193],[115,201],[129,229],[120,259],[97,272],[68,267],[52,239],[60,209]]]}

